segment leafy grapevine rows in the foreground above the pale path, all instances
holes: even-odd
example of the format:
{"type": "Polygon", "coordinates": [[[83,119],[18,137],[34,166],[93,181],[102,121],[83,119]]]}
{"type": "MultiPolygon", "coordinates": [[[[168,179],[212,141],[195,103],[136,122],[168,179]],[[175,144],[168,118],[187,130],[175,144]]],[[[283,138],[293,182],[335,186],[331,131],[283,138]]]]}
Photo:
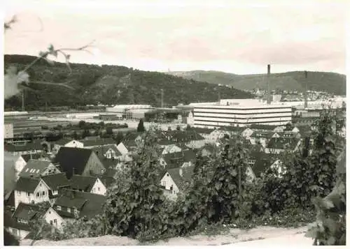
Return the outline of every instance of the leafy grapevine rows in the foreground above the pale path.
{"type": "Polygon", "coordinates": [[[223,139],[211,156],[197,153],[193,178],[176,200],[167,199],[160,187],[165,169],[158,160],[157,133],[150,129],[133,160],[119,169],[102,215],[65,225],[64,232],[51,239],[115,234],[157,241],[215,225],[248,229],[316,220],[307,233],[315,244],[344,245],[345,174],[335,156],[334,118],[325,110],[310,137],[313,142],[281,157],[286,172],[269,169],[254,181],[246,176],[249,151],[243,140],[223,139]]]}

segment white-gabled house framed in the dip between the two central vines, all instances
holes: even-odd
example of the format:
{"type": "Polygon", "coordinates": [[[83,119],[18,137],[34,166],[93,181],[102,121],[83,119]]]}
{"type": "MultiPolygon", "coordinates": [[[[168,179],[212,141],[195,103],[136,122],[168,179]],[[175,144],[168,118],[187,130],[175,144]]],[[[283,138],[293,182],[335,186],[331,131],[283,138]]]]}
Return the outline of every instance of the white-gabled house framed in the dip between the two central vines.
{"type": "Polygon", "coordinates": [[[172,199],[176,195],[186,189],[186,183],[189,183],[193,176],[193,166],[191,167],[178,167],[173,169],[167,169],[162,178],[160,179],[160,185],[166,190],[169,190],[169,197],[172,199]]]}

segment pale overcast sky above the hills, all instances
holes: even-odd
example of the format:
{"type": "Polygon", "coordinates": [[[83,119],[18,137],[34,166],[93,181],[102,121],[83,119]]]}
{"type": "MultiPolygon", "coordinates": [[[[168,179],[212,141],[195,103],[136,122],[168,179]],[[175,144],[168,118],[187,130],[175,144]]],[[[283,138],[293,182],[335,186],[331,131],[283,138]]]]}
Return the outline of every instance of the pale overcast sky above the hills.
{"type": "Polygon", "coordinates": [[[346,6],[339,1],[6,2],[6,18],[18,16],[5,34],[6,54],[95,40],[94,55],[72,52],[71,61],[237,74],[266,73],[270,63],[272,73],[345,73],[346,6]]]}

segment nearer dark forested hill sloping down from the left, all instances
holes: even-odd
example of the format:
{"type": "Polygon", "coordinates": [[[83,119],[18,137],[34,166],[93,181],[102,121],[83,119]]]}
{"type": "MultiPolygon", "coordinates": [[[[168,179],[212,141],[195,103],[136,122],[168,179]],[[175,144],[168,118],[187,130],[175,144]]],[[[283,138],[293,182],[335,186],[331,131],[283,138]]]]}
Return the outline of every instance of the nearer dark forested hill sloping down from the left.
{"type": "MultiPolygon", "coordinates": [[[[16,65],[24,68],[35,56],[5,55],[4,66],[16,65]]],[[[60,86],[35,84],[34,91],[25,91],[27,110],[50,106],[76,106],[87,104],[149,104],[160,106],[161,89],[164,91],[164,105],[211,102],[221,98],[251,98],[250,93],[217,86],[207,82],[188,80],[165,73],[148,72],[124,66],[97,66],[71,63],[72,73],[65,63],[53,66],[41,60],[28,71],[31,80],[66,82],[74,90],[60,86]]],[[[20,107],[20,96],[5,101],[5,107],[20,107]]]]}

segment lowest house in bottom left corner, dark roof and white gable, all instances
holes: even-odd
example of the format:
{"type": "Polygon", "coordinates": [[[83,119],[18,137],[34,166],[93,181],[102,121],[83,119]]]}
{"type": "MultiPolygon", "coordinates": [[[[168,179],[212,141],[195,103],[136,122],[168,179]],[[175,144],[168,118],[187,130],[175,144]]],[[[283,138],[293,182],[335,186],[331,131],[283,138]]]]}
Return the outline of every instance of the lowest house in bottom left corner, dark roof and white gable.
{"type": "Polygon", "coordinates": [[[63,219],[52,209],[49,203],[26,204],[21,202],[13,214],[8,213],[4,219],[3,226],[8,232],[25,239],[32,231],[29,222],[38,218],[43,218],[48,224],[57,229],[62,228],[63,219]]]}

